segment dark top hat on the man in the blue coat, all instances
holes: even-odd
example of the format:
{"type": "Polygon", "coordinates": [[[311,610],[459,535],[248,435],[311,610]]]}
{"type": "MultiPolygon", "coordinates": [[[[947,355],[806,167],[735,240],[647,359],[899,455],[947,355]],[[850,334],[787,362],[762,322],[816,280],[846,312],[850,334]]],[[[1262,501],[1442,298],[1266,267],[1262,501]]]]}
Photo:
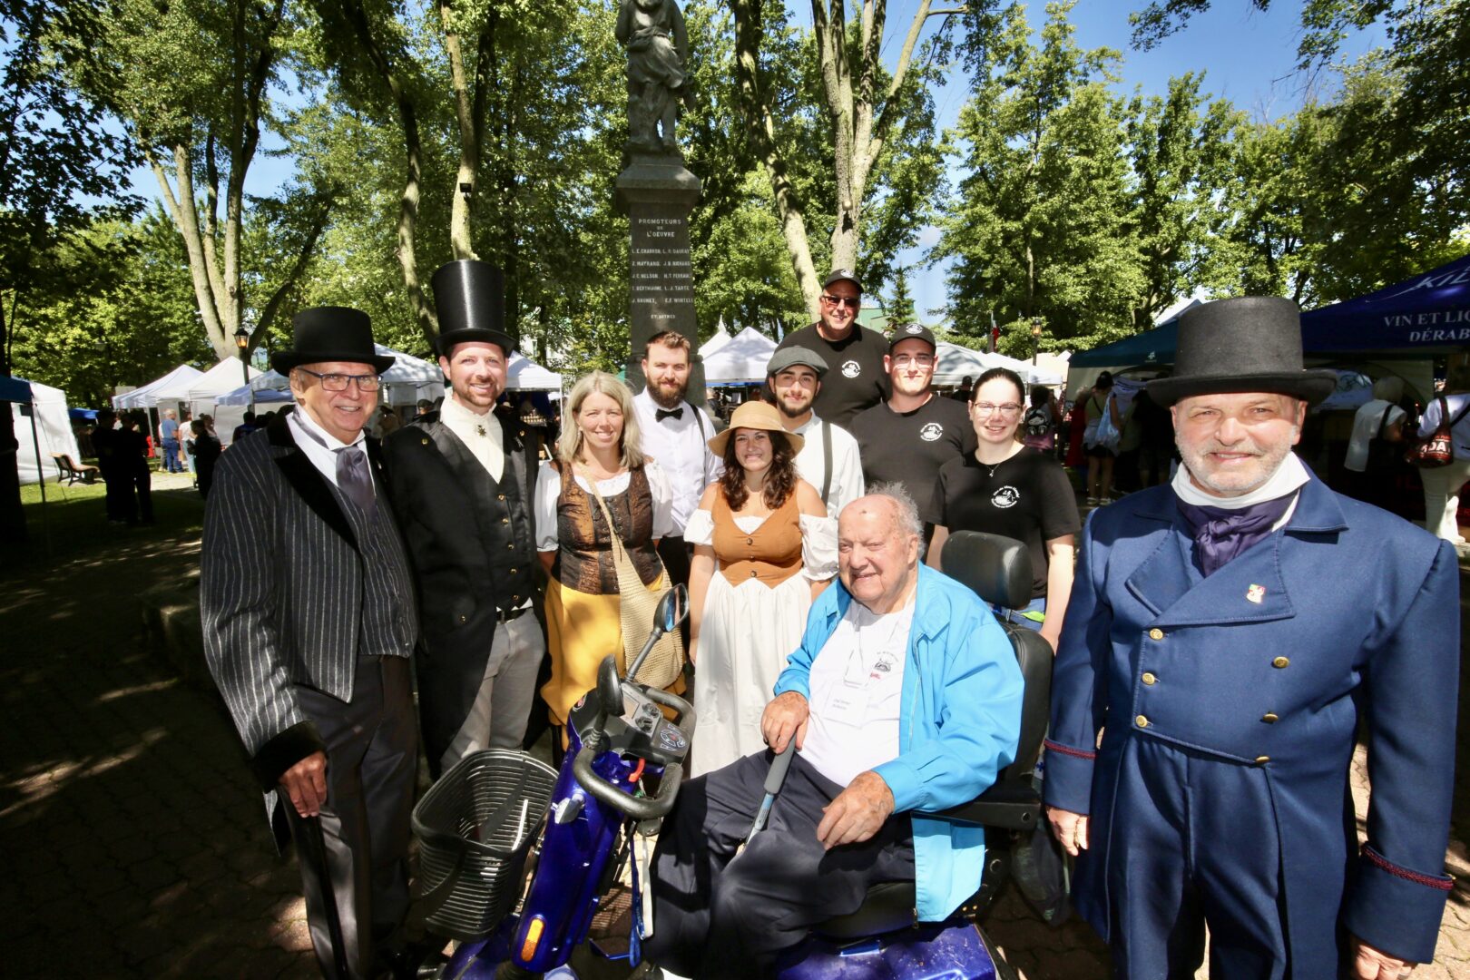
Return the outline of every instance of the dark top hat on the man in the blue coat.
{"type": "Polygon", "coordinates": [[[1201,303],[1179,317],[1175,373],[1148,382],[1172,406],[1191,395],[1266,391],[1317,403],[1338,386],[1333,370],[1302,370],[1301,311],[1279,297],[1201,303]]]}

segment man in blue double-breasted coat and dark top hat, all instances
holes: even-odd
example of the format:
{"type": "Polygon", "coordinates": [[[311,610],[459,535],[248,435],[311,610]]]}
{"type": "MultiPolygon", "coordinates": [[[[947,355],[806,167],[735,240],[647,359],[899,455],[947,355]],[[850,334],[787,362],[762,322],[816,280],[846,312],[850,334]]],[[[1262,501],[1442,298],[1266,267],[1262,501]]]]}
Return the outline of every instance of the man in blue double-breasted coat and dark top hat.
{"type": "Polygon", "coordinates": [[[1194,977],[1205,927],[1213,977],[1396,980],[1433,958],[1458,566],[1292,453],[1333,383],[1302,370],[1289,300],[1195,307],[1148,383],[1183,466],[1083,530],[1044,792],[1119,977],[1194,977]]]}

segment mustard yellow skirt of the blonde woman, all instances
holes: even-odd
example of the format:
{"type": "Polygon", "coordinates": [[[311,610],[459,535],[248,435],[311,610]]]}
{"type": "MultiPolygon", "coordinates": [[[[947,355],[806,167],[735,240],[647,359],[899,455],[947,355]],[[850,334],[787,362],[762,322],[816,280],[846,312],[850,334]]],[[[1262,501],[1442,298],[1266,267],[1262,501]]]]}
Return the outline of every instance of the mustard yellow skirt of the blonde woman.
{"type": "MultiPolygon", "coordinates": [[[[651,589],[667,588],[667,574],[651,589]]],[[[597,669],[607,654],[617,655],[617,673],[628,670],[623,657],[623,623],[617,595],[588,595],[564,586],[556,579],[547,582],[547,649],[551,654],[551,680],[541,688],[551,724],[564,726],[572,705],[597,686],[597,669]]],[[[684,693],[684,677],[667,691],[684,693]]]]}

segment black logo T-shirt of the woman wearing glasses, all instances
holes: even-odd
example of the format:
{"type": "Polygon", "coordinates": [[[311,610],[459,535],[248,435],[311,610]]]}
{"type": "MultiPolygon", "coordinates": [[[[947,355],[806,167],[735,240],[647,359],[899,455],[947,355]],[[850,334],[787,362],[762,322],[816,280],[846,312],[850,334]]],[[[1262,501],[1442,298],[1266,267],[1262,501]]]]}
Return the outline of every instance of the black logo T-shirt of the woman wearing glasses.
{"type": "Polygon", "coordinates": [[[1078,498],[1055,458],[1023,448],[994,467],[973,454],[939,470],[933,523],[1020,541],[1030,552],[1030,595],[1047,594],[1047,542],[1082,530],[1078,498]]]}

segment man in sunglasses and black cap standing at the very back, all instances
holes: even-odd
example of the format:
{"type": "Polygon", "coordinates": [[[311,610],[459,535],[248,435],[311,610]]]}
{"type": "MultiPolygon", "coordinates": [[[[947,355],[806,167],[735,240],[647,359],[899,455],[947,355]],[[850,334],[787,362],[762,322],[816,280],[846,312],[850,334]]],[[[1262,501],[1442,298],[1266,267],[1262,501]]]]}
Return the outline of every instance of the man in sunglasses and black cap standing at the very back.
{"type": "Polygon", "coordinates": [[[816,351],[831,367],[822,381],[822,392],[813,406],[823,419],[848,428],[853,417],[882,401],[883,383],[882,334],[857,325],[863,307],[863,284],[851,269],[833,269],[822,284],[822,319],[811,326],[786,334],[778,350],[806,347],[816,351]]]}

